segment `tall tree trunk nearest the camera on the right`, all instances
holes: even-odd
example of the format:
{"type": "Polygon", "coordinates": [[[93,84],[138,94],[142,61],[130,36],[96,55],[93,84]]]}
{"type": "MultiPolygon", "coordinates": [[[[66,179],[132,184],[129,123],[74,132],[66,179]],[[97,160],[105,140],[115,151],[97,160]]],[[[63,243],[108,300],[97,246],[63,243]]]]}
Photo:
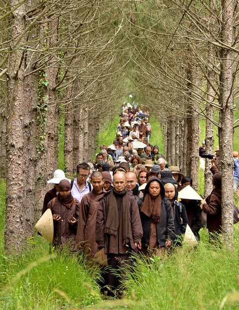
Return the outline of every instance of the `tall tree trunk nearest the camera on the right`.
{"type": "MultiPolygon", "coordinates": [[[[222,41],[235,42],[235,0],[222,0],[222,41]]],[[[221,47],[219,145],[222,173],[222,229],[225,245],[233,249],[233,103],[235,52],[221,47]]]]}

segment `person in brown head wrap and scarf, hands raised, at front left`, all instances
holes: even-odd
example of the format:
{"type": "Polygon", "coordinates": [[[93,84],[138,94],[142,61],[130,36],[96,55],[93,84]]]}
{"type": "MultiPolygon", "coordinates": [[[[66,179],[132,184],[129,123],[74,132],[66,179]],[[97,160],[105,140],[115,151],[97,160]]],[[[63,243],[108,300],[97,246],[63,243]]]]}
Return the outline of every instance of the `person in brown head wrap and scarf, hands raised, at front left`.
{"type": "Polygon", "coordinates": [[[79,217],[78,200],[71,195],[71,185],[68,180],[62,180],[59,183],[59,194],[52,199],[47,207],[51,209],[54,223],[53,245],[61,247],[67,243],[73,249],[77,222],[79,217]]]}

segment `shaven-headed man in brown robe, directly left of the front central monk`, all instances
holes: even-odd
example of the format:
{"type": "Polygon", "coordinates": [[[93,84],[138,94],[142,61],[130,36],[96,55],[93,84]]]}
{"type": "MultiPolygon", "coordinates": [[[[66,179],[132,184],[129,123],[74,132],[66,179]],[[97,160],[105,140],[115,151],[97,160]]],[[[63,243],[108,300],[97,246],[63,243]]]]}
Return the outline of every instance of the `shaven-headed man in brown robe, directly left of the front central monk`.
{"type": "Polygon", "coordinates": [[[76,234],[77,249],[83,247],[84,255],[89,260],[94,259],[98,251],[96,243],[96,216],[101,199],[106,191],[103,188],[103,174],[94,171],[91,175],[93,190],[85,195],[80,204],[79,222],[76,234]]]}

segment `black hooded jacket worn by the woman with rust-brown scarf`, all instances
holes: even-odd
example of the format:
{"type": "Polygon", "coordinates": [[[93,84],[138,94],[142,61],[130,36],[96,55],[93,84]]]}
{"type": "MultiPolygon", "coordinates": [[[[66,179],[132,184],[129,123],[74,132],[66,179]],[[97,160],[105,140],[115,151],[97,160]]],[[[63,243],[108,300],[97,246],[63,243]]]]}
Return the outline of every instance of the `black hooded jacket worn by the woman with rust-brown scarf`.
{"type": "MultiPolygon", "coordinates": [[[[143,198],[148,193],[149,185],[151,182],[157,181],[160,185],[160,194],[162,197],[161,202],[161,213],[160,213],[160,221],[156,224],[157,227],[157,241],[160,247],[165,246],[166,240],[173,241],[174,237],[174,222],[173,222],[173,215],[172,215],[172,207],[170,202],[164,198],[164,187],[160,180],[156,177],[150,179],[147,183],[143,198]]],[[[141,204],[143,199],[141,199],[141,204]]],[[[141,204],[139,204],[141,206],[141,204]]],[[[140,213],[142,228],[143,228],[143,236],[142,236],[142,245],[147,246],[149,241],[149,233],[150,233],[150,225],[151,225],[151,217],[148,217],[143,212],[140,213]]]]}

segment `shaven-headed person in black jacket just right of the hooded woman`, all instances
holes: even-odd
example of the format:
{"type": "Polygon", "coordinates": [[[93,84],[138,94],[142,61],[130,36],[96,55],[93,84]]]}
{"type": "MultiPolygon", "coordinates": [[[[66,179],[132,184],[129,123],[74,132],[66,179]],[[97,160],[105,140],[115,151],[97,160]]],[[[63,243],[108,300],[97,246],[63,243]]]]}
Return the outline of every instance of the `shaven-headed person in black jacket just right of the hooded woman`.
{"type": "Polygon", "coordinates": [[[184,205],[178,202],[178,190],[172,183],[164,185],[165,197],[170,201],[174,218],[173,245],[182,245],[181,235],[185,233],[188,217],[184,205]]]}

